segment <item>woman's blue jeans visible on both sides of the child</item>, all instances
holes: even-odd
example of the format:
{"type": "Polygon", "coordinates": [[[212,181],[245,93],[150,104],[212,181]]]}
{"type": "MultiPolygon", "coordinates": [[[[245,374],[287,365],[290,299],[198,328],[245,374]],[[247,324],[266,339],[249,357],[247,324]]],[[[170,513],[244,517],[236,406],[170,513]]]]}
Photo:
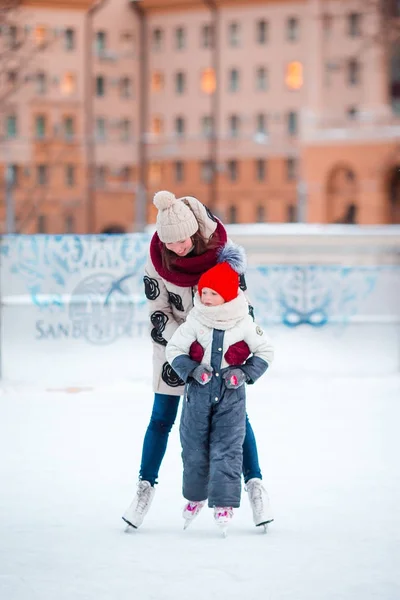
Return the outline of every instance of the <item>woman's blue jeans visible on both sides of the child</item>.
{"type": "MultiPolygon", "coordinates": [[[[143,441],[142,462],[140,464],[140,479],[157,483],[158,472],[168,444],[168,436],[175,423],[179,406],[179,396],[155,394],[153,411],[143,441]]],[[[256,438],[253,428],[246,415],[246,437],[243,442],[243,477],[245,483],[253,477],[261,477],[258,463],[256,438]]]]}

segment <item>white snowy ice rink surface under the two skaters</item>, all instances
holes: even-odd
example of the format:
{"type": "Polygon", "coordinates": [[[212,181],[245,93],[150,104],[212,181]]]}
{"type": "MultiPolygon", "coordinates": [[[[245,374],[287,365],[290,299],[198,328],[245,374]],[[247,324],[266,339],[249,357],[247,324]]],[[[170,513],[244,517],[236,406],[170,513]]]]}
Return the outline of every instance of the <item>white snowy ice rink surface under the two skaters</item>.
{"type": "Polygon", "coordinates": [[[177,427],[153,507],[124,533],[148,369],[75,394],[0,385],[0,598],[398,600],[399,400],[399,377],[272,369],[248,410],[275,522],[256,530],[244,493],[222,539],[209,509],[182,529],[177,427]]]}

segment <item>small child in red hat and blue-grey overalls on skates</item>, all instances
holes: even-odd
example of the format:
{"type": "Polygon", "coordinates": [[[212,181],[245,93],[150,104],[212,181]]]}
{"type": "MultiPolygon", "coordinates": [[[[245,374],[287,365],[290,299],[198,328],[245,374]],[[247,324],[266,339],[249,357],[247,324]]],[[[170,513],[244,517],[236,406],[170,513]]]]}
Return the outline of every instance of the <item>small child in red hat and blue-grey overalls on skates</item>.
{"type": "MultiPolygon", "coordinates": [[[[263,330],[248,314],[239,289],[245,270],[244,251],[228,244],[219,262],[199,280],[194,308],[173,334],[167,360],[186,382],[180,436],[183,458],[183,496],[188,501],[185,529],[208,500],[224,529],[240,506],[243,440],[246,431],[245,383],[254,383],[273,359],[273,348],[263,330]],[[235,361],[238,343],[248,346],[243,364],[235,361]],[[200,362],[191,358],[202,348],[200,362]],[[233,356],[232,356],[233,354],[233,356]]],[[[265,525],[271,518],[258,525],[265,525]]]]}

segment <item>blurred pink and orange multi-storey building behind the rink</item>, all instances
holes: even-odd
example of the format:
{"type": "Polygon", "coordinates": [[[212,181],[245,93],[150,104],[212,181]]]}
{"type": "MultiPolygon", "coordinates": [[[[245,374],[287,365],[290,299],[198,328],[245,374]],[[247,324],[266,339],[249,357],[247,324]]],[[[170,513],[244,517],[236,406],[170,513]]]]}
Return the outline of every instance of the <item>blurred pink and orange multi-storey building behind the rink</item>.
{"type": "Polygon", "coordinates": [[[399,222],[400,51],[363,7],[26,0],[33,61],[0,96],[3,231],[141,229],[160,188],[226,222],[399,222]]]}

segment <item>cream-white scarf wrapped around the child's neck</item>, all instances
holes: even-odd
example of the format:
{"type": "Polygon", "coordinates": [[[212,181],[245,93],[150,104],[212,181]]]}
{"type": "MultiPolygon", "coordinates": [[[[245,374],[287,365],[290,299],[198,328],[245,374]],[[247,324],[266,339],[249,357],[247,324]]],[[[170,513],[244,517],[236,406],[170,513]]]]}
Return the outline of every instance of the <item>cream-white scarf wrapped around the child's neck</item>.
{"type": "Polygon", "coordinates": [[[239,290],[237,298],[225,302],[220,306],[204,306],[200,296],[196,293],[194,297],[194,308],[188,315],[196,321],[200,321],[206,327],[213,329],[232,329],[239,321],[249,314],[249,305],[242,290],[239,290]]]}

